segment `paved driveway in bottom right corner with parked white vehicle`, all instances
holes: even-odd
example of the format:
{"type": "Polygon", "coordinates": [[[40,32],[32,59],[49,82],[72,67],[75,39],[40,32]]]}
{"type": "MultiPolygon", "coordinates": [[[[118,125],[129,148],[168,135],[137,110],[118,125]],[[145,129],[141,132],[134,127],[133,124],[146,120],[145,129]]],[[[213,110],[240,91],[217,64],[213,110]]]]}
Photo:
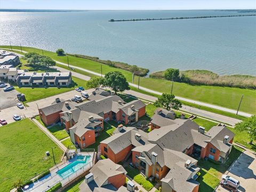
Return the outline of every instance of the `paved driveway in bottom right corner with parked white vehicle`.
{"type": "MultiPolygon", "coordinates": [[[[238,191],[256,191],[256,156],[249,151],[237,159],[229,170],[228,175],[240,181],[238,191]]],[[[216,191],[228,191],[219,186],[216,191]]]]}

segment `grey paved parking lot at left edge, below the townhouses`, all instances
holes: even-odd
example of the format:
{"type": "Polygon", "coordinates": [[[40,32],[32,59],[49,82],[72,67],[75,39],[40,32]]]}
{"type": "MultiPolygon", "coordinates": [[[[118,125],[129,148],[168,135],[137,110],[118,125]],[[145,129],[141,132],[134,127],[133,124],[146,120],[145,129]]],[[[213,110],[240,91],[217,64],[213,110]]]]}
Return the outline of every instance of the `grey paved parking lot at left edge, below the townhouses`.
{"type": "Polygon", "coordinates": [[[16,90],[4,92],[4,88],[0,88],[0,110],[16,105],[18,103],[17,94],[19,92],[16,90]]]}

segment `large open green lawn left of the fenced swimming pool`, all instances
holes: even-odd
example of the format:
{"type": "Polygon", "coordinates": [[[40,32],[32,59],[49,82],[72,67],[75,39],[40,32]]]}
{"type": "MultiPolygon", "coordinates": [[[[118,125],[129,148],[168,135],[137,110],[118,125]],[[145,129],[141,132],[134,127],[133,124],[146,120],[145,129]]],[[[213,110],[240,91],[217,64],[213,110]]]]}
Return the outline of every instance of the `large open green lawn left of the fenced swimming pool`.
{"type": "Polygon", "coordinates": [[[50,169],[53,165],[52,147],[56,163],[62,150],[30,119],[23,119],[0,127],[0,191],[10,191],[18,179],[27,181],[50,169]],[[46,156],[50,151],[51,156],[46,156]]]}

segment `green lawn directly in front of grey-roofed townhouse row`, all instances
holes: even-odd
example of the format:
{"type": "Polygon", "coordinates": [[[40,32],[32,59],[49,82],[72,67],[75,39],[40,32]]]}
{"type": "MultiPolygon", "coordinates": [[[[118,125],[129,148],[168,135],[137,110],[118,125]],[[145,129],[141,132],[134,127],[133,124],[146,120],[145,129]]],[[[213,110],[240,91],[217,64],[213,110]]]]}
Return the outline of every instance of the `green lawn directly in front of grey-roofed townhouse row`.
{"type": "Polygon", "coordinates": [[[71,84],[69,87],[61,87],[61,88],[57,88],[57,87],[35,87],[35,88],[31,88],[31,87],[15,87],[15,89],[26,95],[26,102],[31,102],[31,101],[36,101],[39,99],[43,99],[43,98],[47,98],[47,97],[51,97],[53,95],[57,95],[57,94],[61,94],[61,93],[65,93],[68,91],[72,91],[75,89],[75,87],[77,86],[83,86],[84,89],[87,89],[86,86],[86,81],[84,81],[83,79],[77,78],[77,77],[72,77],[73,78],[73,84],[71,84]]]}

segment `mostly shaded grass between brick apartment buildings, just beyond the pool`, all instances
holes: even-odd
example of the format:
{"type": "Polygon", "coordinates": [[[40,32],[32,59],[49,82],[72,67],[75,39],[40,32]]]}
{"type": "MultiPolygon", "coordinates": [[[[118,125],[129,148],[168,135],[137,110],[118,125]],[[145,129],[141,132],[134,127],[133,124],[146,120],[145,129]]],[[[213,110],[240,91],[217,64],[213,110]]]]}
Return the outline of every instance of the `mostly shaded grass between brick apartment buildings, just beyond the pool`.
{"type": "Polygon", "coordinates": [[[94,148],[95,151],[98,151],[98,146],[100,145],[100,142],[110,137],[115,131],[115,129],[116,128],[114,126],[111,126],[109,123],[104,122],[104,130],[100,133],[100,135],[97,138],[95,138],[95,143],[86,148],[94,148]]]}

